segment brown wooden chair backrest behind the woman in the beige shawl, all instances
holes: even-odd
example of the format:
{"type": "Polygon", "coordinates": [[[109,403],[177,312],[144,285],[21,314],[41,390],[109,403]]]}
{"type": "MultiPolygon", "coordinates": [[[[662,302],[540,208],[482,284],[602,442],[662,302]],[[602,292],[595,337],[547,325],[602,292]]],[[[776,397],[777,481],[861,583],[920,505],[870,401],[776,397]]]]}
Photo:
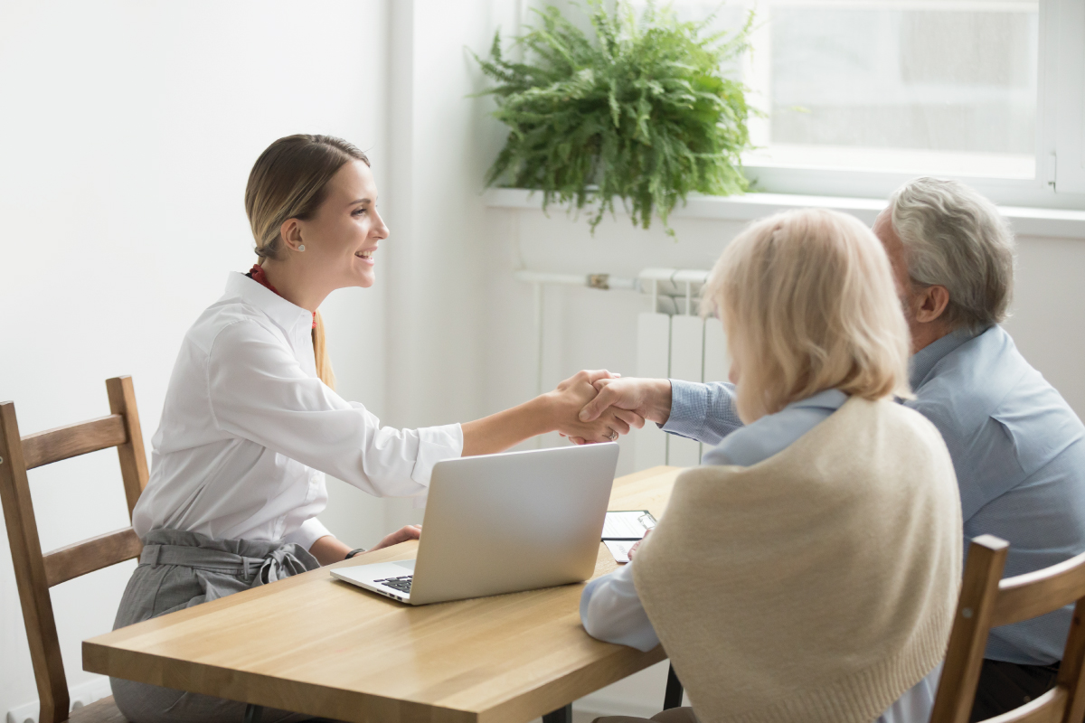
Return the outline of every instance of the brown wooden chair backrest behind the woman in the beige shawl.
{"type": "MultiPolygon", "coordinates": [[[[1043,570],[1001,580],[1009,543],[991,534],[972,540],[934,699],[931,723],[968,723],[992,628],[1036,618],[1075,603],[1055,688],[998,716],[999,723],[1081,723],[1085,716],[1085,553],[1043,570]]],[[[996,720],[996,719],[990,719],[996,720]]]]}

